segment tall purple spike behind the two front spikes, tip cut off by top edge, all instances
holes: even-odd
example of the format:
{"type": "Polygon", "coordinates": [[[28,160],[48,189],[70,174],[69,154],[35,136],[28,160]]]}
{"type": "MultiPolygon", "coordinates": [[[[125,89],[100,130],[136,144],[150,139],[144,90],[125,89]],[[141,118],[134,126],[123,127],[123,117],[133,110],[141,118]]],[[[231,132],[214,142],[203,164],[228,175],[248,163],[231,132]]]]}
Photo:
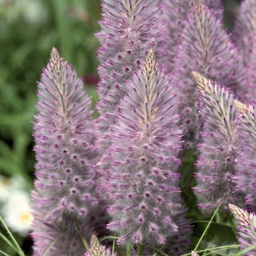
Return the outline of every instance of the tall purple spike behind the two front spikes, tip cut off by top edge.
{"type": "Polygon", "coordinates": [[[102,2],[102,31],[97,34],[102,45],[98,51],[101,81],[97,126],[102,135],[99,144],[103,154],[110,146],[109,128],[115,123],[120,98],[127,90],[127,80],[139,68],[149,49],[154,49],[158,60],[166,55],[163,25],[158,18],[161,10],[157,3],[157,0],[102,2]]]}

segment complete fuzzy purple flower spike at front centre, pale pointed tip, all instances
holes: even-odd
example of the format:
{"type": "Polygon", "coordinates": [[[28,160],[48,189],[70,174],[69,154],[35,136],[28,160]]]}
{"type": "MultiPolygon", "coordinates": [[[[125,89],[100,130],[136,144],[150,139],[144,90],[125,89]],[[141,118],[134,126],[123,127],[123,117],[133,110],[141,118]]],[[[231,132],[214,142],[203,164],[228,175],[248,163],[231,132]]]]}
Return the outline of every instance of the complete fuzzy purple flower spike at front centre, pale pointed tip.
{"type": "Polygon", "coordinates": [[[111,127],[108,228],[119,234],[118,244],[164,244],[179,228],[173,219],[182,211],[181,128],[172,89],[150,51],[129,81],[118,123],[111,127]]]}

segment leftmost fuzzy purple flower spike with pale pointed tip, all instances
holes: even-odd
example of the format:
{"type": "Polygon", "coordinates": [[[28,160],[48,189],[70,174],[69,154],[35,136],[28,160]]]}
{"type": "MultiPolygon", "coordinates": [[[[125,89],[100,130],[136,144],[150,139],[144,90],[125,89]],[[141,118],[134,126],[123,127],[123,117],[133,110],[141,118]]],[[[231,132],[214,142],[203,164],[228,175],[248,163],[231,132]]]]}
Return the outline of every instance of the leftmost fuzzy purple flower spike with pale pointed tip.
{"type": "MultiPolygon", "coordinates": [[[[95,134],[92,131],[91,99],[83,91],[81,78],[53,49],[39,82],[38,114],[35,116],[35,190],[32,192],[35,255],[55,240],[51,255],[76,255],[84,247],[83,236],[91,236],[97,213],[104,215],[104,200],[97,186],[95,134]],[[103,212],[102,210],[103,209],[103,212]],[[64,236],[64,237],[63,237],[64,236]],[[71,238],[71,239],[70,239],[71,238]]],[[[100,188],[99,188],[100,190],[100,188]]],[[[100,218],[100,216],[98,216],[100,218]]]]}

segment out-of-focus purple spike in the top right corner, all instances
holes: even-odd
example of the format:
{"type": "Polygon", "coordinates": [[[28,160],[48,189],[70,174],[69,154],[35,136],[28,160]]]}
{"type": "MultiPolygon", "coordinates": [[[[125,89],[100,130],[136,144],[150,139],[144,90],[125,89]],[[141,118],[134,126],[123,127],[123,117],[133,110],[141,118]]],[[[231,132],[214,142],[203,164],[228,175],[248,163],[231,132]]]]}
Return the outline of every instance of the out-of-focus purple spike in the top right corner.
{"type": "Polygon", "coordinates": [[[242,2],[234,26],[232,39],[240,49],[244,59],[245,75],[240,83],[250,88],[245,100],[256,97],[256,1],[242,2]]]}

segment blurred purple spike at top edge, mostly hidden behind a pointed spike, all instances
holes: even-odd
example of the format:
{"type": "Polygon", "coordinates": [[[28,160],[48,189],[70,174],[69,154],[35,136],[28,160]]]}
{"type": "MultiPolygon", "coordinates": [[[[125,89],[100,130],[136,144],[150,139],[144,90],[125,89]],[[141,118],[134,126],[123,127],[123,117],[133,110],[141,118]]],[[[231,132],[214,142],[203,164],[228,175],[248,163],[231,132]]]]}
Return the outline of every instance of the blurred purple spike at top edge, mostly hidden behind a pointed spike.
{"type": "MultiPolygon", "coordinates": [[[[181,35],[184,26],[186,16],[190,9],[194,6],[192,0],[163,0],[163,14],[161,18],[163,24],[167,27],[167,49],[168,49],[168,72],[172,72],[175,64],[174,58],[177,54],[179,43],[181,43],[181,35]]],[[[202,0],[202,3],[209,7],[219,20],[222,20],[223,5],[220,0],[202,0]]]]}

